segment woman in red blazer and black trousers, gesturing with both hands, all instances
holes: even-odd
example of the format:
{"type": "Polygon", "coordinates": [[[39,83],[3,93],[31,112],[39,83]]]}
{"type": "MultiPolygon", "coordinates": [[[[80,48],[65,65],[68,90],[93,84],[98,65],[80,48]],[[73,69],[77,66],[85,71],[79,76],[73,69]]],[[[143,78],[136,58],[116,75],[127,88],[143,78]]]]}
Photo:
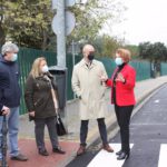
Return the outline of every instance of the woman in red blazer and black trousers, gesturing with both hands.
{"type": "Polygon", "coordinates": [[[118,160],[128,158],[130,154],[129,124],[136,104],[134,94],[136,70],[128,65],[129,60],[129,50],[118,49],[115,59],[117,68],[111,79],[101,76],[101,80],[105,81],[108,87],[111,87],[111,104],[115,105],[116,117],[120,127],[121,149],[116,153],[118,160]]]}

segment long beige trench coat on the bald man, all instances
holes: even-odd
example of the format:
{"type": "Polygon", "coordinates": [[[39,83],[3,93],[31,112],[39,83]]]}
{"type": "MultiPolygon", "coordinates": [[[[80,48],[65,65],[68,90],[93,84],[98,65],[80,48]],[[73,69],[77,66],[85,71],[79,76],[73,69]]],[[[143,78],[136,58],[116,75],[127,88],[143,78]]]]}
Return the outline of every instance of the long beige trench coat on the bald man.
{"type": "Polygon", "coordinates": [[[71,82],[76,95],[81,97],[81,120],[106,118],[108,114],[105,101],[106,86],[100,81],[100,75],[107,76],[104,65],[97,60],[92,60],[89,68],[84,59],[73,67],[71,82]]]}

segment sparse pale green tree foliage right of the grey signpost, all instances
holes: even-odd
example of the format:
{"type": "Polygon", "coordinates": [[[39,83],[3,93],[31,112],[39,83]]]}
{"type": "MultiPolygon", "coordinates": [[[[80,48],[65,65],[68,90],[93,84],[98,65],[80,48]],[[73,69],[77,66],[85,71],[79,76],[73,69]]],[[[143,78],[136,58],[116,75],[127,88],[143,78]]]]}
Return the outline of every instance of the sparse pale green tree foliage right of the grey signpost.
{"type": "Polygon", "coordinates": [[[118,16],[121,14],[124,9],[119,0],[88,0],[82,8],[75,6],[71,10],[76,14],[77,24],[68,41],[85,40],[92,42],[99,36],[99,30],[101,30],[104,23],[108,19],[117,18],[119,20],[118,16]]]}

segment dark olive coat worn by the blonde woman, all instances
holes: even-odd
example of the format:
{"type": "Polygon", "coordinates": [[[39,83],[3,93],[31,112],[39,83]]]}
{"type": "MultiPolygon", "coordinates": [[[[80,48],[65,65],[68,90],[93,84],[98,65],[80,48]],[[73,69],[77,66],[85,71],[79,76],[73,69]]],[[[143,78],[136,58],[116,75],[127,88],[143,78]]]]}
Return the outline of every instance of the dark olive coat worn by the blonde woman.
{"type": "MultiPolygon", "coordinates": [[[[56,96],[58,98],[57,86],[53,82],[53,78],[51,75],[48,75],[48,77],[51,79],[56,96]]],[[[24,100],[28,111],[35,111],[35,119],[56,116],[51,87],[45,77],[28,77],[26,82],[24,100]]]]}

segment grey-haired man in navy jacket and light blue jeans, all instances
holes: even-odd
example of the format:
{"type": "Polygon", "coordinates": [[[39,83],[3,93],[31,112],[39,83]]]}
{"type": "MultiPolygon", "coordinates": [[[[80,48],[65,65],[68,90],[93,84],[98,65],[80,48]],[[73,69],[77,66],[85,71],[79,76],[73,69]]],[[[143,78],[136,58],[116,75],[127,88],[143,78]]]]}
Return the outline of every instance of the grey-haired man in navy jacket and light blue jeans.
{"type": "MultiPolygon", "coordinates": [[[[10,157],[12,160],[26,161],[28,158],[23,156],[18,148],[19,131],[19,106],[21,89],[19,87],[19,68],[17,63],[19,48],[14,43],[6,43],[2,46],[0,55],[0,110],[7,114],[9,129],[10,157]]],[[[2,117],[0,117],[0,129],[2,126],[2,117]]],[[[0,138],[2,134],[0,132],[0,138]]],[[[2,158],[0,151],[0,160],[2,158]]]]}

